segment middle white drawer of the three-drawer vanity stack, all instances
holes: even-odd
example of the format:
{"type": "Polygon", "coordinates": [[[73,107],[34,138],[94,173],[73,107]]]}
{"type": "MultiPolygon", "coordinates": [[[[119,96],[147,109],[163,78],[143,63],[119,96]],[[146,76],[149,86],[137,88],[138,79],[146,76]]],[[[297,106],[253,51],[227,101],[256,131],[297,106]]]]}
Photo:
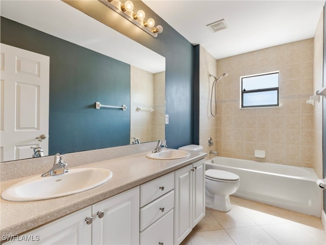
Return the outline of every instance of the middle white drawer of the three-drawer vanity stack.
{"type": "Polygon", "coordinates": [[[173,206],[174,191],[170,191],[166,195],[142,207],[140,210],[140,231],[164,216],[173,206]]]}

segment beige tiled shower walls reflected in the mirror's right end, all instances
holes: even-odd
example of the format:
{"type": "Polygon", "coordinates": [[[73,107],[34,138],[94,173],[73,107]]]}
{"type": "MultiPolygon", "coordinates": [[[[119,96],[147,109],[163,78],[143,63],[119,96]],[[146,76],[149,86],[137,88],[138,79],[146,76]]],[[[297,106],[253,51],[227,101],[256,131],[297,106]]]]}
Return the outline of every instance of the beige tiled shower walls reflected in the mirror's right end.
{"type": "Polygon", "coordinates": [[[165,138],[165,72],[130,66],[130,143],[165,138]]]}

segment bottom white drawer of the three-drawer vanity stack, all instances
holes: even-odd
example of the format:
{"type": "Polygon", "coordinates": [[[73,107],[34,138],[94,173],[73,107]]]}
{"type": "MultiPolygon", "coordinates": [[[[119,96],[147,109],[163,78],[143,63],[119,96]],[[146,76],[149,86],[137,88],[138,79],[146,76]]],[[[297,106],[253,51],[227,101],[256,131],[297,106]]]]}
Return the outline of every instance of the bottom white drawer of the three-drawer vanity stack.
{"type": "Polygon", "coordinates": [[[173,209],[140,234],[140,244],[173,244],[173,209]]]}

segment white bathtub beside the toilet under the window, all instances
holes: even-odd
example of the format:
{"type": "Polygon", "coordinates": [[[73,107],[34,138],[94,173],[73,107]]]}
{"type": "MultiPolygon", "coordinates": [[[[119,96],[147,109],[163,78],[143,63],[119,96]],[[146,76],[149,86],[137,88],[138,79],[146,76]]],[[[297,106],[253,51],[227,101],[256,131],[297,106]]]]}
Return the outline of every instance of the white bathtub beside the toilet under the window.
{"type": "Polygon", "coordinates": [[[321,215],[321,189],[311,168],[214,157],[206,161],[206,169],[239,175],[240,187],[234,196],[316,217],[321,215]]]}

